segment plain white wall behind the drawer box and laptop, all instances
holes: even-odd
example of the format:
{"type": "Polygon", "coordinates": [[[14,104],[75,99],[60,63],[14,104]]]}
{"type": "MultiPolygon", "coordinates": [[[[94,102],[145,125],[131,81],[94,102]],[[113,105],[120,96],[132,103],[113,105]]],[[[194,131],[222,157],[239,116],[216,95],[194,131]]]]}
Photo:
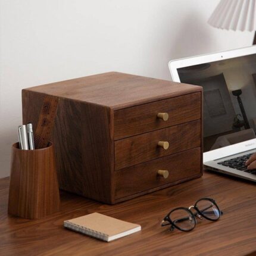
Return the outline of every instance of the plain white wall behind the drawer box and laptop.
{"type": "Polygon", "coordinates": [[[171,59],[251,45],[214,29],[218,0],[0,0],[0,177],[21,124],[21,89],[106,71],[170,80],[171,59]]]}

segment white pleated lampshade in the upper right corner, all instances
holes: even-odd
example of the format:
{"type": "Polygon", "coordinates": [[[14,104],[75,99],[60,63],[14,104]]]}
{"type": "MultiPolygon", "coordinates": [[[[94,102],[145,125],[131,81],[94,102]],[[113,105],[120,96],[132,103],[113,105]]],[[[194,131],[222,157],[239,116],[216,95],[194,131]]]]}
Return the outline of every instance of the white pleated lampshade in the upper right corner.
{"type": "Polygon", "coordinates": [[[208,20],[218,29],[256,30],[256,0],[221,0],[208,20]]]}

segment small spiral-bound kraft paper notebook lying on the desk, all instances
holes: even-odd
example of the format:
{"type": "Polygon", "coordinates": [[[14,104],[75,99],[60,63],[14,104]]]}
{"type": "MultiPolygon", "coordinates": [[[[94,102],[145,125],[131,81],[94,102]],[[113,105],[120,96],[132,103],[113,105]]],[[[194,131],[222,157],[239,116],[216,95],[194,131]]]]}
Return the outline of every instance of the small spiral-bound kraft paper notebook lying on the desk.
{"type": "Polygon", "coordinates": [[[141,226],[138,224],[118,220],[100,213],[65,220],[64,227],[106,242],[141,230],[141,226]]]}

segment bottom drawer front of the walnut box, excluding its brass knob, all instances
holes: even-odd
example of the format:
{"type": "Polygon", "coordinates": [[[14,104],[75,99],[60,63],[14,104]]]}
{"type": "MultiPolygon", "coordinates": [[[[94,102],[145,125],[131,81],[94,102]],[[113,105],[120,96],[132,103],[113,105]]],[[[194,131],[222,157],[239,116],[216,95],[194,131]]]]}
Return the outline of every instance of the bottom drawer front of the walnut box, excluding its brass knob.
{"type": "Polygon", "coordinates": [[[115,171],[115,199],[182,181],[201,174],[201,148],[158,158],[115,171]],[[165,179],[158,170],[167,170],[165,179]]]}

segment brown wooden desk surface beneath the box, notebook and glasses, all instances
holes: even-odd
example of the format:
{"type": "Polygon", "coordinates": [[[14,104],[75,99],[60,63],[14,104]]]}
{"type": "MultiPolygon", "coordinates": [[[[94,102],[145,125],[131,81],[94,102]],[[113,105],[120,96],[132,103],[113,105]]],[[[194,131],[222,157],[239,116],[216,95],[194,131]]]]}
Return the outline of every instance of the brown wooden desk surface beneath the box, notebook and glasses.
{"type": "Polygon", "coordinates": [[[205,172],[190,182],[117,205],[61,193],[61,212],[41,220],[7,215],[9,179],[0,180],[0,255],[256,255],[256,185],[205,172]],[[199,220],[191,232],[170,232],[162,218],[202,197],[216,199],[224,215],[199,220]],[[63,221],[93,213],[141,224],[142,231],[106,243],[66,230],[63,221]]]}

